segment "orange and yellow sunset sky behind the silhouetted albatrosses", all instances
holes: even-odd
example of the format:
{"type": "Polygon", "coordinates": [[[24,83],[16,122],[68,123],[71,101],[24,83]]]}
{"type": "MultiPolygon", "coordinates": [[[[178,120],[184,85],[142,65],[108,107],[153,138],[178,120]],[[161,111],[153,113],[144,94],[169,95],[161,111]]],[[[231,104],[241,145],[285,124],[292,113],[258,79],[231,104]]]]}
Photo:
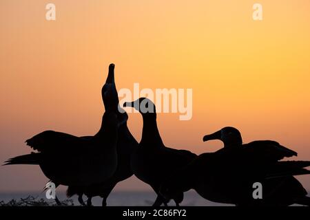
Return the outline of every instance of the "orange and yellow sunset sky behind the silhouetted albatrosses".
{"type": "MultiPolygon", "coordinates": [[[[109,63],[118,89],[193,89],[192,120],[158,114],[167,146],[216,151],[203,135],[236,126],[244,142],[277,140],[309,160],[309,11],[309,0],[0,0],[0,163],[30,153],[24,141],[45,129],[96,133],[109,63]]],[[[129,126],[140,140],[141,115],[129,126]]],[[[46,181],[37,166],[0,167],[2,192],[46,181]]],[[[131,178],[117,189],[149,188],[131,178]]]]}

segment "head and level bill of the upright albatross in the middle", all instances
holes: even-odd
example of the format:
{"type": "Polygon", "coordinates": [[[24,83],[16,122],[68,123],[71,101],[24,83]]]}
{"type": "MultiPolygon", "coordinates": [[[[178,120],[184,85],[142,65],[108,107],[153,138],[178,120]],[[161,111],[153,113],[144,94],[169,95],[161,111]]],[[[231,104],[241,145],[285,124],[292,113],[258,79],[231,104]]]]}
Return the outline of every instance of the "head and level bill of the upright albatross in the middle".
{"type": "Polygon", "coordinates": [[[148,98],[138,98],[134,102],[125,102],[123,107],[133,107],[142,115],[156,114],[155,104],[148,98]]]}

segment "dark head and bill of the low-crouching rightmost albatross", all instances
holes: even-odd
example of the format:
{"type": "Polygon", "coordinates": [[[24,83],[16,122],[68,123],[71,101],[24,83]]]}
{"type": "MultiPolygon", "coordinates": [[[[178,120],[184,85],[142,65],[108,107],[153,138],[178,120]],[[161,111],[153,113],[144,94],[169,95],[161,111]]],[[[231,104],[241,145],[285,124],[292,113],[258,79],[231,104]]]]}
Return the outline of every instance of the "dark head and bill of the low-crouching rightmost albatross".
{"type": "Polygon", "coordinates": [[[232,126],[226,126],[220,131],[216,131],[210,135],[205,135],[203,141],[221,140],[224,142],[224,147],[236,147],[242,145],[242,137],[240,131],[232,126]]]}

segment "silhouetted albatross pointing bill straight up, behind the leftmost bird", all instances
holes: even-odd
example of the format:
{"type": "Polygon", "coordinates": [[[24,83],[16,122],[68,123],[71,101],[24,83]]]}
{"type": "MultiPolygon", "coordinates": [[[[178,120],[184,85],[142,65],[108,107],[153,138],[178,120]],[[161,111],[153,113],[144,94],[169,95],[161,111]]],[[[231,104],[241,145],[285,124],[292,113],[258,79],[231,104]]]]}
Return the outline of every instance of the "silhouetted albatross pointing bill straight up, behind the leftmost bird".
{"type": "MultiPolygon", "coordinates": [[[[113,111],[117,115],[118,119],[118,139],[117,139],[117,168],[115,173],[99,184],[93,184],[91,186],[69,186],[67,190],[68,197],[72,195],[79,195],[79,202],[81,205],[85,205],[82,199],[83,194],[85,194],[87,199],[87,206],[92,205],[92,197],[100,196],[103,198],[102,205],[107,205],[107,197],[112,192],[114,186],[119,181],[123,181],[133,175],[132,169],[130,167],[130,159],[132,152],[138,147],[138,142],[134,139],[134,136],[130,133],[127,127],[128,115],[123,111],[121,113],[121,107],[118,106],[118,94],[116,90],[115,80],[114,80],[114,67],[112,63],[109,66],[109,72],[107,74],[107,79],[105,84],[101,89],[101,96],[103,98],[103,104],[105,109],[113,111]],[[107,94],[109,97],[107,98],[107,94]],[[120,111],[118,111],[120,110],[120,111]]],[[[85,137],[89,138],[89,137],[85,137]]]]}

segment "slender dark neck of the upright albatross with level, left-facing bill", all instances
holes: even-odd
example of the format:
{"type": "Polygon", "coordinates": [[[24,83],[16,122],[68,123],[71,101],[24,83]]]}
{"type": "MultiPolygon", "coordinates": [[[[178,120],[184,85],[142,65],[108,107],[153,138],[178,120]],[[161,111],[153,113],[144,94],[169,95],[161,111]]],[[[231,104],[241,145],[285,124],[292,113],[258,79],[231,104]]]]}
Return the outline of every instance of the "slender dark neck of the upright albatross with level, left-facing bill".
{"type": "Polygon", "coordinates": [[[143,115],[143,129],[141,144],[147,144],[149,146],[164,146],[161,135],[159,134],[156,113],[143,115]]]}

